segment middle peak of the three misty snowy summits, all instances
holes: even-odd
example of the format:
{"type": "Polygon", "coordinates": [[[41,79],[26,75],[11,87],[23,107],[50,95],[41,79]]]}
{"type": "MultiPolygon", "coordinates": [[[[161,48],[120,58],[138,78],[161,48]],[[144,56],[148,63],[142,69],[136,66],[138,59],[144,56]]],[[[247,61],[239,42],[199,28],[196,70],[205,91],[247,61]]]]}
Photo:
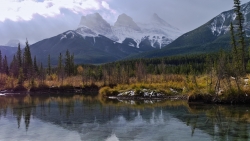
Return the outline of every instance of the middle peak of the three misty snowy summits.
{"type": "Polygon", "coordinates": [[[134,20],[126,14],[121,14],[118,16],[114,27],[125,27],[136,31],[141,31],[140,27],[134,22],[134,20]]]}

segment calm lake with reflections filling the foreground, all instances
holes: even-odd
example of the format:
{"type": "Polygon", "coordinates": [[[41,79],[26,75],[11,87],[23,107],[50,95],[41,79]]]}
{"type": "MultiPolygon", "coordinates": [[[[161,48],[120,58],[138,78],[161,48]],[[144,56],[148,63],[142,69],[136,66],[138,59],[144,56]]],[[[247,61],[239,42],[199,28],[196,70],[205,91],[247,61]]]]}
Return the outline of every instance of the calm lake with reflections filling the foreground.
{"type": "Polygon", "coordinates": [[[1,96],[0,141],[250,140],[250,106],[1,96]]]}

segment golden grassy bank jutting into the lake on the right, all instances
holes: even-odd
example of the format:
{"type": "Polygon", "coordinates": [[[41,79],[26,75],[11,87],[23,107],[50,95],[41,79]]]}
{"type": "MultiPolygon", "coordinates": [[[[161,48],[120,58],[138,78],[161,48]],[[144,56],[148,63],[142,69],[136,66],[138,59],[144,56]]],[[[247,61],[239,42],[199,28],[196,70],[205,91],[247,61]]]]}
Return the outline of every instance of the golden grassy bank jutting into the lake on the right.
{"type": "Polygon", "coordinates": [[[249,75],[241,78],[238,85],[233,77],[221,79],[217,90],[218,80],[216,77],[212,79],[208,75],[169,75],[167,77],[171,79],[155,83],[144,82],[102,87],[99,91],[99,97],[117,96],[127,91],[134,91],[135,96],[139,96],[143,89],[148,89],[165,96],[185,95],[189,98],[189,102],[225,104],[250,102],[250,87],[248,80],[246,81],[249,75]]]}

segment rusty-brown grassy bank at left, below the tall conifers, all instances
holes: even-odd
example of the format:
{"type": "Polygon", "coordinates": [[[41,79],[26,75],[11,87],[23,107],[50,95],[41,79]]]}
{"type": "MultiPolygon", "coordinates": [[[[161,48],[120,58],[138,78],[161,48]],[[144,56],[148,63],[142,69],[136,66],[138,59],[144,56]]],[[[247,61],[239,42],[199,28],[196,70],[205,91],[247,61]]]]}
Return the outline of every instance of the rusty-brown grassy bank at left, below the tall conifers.
{"type": "Polygon", "coordinates": [[[12,92],[72,92],[83,90],[83,92],[96,91],[103,87],[101,82],[83,82],[81,76],[66,77],[63,81],[56,75],[47,76],[45,80],[25,80],[22,84],[18,79],[2,74],[0,77],[0,91],[12,92]]]}

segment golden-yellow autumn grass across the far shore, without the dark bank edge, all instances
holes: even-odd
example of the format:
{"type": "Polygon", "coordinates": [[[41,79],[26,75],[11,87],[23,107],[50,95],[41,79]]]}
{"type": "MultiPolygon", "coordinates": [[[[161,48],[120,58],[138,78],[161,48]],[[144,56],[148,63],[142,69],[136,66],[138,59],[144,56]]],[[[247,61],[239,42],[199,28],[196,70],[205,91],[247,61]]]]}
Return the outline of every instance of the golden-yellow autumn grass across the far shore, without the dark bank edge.
{"type": "MultiPolygon", "coordinates": [[[[250,74],[248,74],[246,77],[250,78],[250,74]]],[[[101,96],[114,95],[119,92],[138,89],[156,90],[171,95],[173,93],[170,91],[170,88],[172,88],[177,90],[179,94],[190,96],[208,93],[215,95],[216,82],[217,77],[215,73],[212,74],[212,82],[210,76],[208,75],[147,75],[147,77],[145,77],[141,82],[137,82],[135,77],[131,77],[129,79],[129,84],[125,84],[125,82],[123,82],[122,84],[116,84],[116,86],[113,88],[109,88],[103,87],[103,80],[95,81],[93,79],[90,79],[90,81],[82,81],[82,76],[78,75],[64,78],[62,81],[61,79],[58,80],[58,76],[56,74],[52,74],[50,76],[46,76],[46,80],[43,83],[41,82],[41,80],[35,79],[33,82],[31,80],[26,80],[23,85],[29,90],[32,87],[39,87],[41,85],[46,85],[48,87],[73,86],[83,88],[86,85],[95,84],[101,87],[101,90],[99,91],[99,94],[101,96]]],[[[106,85],[108,85],[107,78],[106,85]]],[[[249,85],[245,85],[243,78],[240,79],[239,85],[241,92],[250,96],[250,87],[249,85]]],[[[0,74],[0,90],[14,89],[17,86],[17,79],[4,74],[0,74]]],[[[231,78],[230,82],[228,82],[226,79],[222,79],[220,81],[220,88],[224,91],[222,98],[234,95],[238,92],[235,80],[231,78]]]]}

